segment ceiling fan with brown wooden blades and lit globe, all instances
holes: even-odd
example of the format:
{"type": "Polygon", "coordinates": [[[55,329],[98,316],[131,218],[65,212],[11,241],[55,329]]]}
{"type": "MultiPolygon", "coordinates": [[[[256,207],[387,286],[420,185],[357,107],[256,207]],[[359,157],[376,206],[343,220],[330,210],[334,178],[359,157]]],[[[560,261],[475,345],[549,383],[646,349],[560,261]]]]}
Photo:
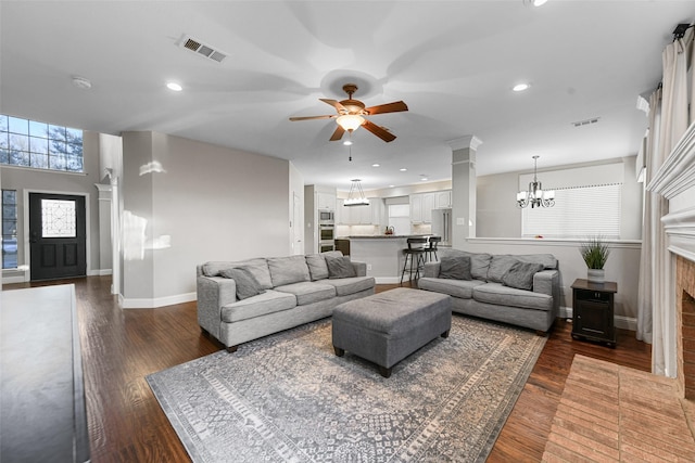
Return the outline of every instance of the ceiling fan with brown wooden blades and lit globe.
{"type": "Polygon", "coordinates": [[[352,133],[358,127],[364,127],[375,136],[379,137],[387,143],[395,140],[395,136],[389,132],[386,128],[377,126],[364,116],[374,116],[375,114],[383,113],[397,113],[401,111],[408,111],[408,106],[402,101],[393,103],[379,104],[377,106],[365,107],[365,104],[359,100],[353,100],[352,94],[357,91],[355,83],[345,83],[343,90],[348,93],[348,100],[336,101],[326,98],[319,100],[324,103],[328,103],[336,108],[338,114],[331,114],[326,116],[306,116],[306,117],[290,117],[290,120],[312,120],[312,119],[336,119],[338,127],[330,138],[330,141],[340,140],[345,131],[352,133]]]}

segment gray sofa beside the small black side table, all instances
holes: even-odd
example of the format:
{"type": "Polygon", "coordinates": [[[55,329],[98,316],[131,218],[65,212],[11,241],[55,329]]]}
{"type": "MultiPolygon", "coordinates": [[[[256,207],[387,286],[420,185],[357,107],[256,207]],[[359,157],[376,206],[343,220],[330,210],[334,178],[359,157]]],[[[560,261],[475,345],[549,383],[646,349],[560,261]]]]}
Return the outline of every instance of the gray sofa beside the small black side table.
{"type": "Polygon", "coordinates": [[[452,296],[455,312],[547,332],[559,311],[557,269],[552,254],[446,249],[439,261],[425,265],[418,287],[452,296]]]}

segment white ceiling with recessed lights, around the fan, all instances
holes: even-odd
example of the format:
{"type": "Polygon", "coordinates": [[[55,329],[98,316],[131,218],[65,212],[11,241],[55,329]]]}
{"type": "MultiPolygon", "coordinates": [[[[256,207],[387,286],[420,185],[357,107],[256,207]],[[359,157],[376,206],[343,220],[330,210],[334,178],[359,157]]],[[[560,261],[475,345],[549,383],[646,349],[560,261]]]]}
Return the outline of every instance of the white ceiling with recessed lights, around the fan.
{"type": "Polygon", "coordinates": [[[695,1],[664,0],[1,1],[0,113],[276,156],[339,190],[451,179],[447,142],[466,136],[483,142],[479,176],[532,169],[534,154],[542,169],[636,154],[637,95],[694,16],[695,1]],[[228,57],[180,48],[184,35],[228,57]],[[510,90],[523,80],[528,91],[510,90]],[[355,131],[352,162],[328,141],[333,119],[288,120],[333,114],[318,99],[345,99],[350,81],[367,106],[409,107],[370,117],[391,143],[355,131]]]}

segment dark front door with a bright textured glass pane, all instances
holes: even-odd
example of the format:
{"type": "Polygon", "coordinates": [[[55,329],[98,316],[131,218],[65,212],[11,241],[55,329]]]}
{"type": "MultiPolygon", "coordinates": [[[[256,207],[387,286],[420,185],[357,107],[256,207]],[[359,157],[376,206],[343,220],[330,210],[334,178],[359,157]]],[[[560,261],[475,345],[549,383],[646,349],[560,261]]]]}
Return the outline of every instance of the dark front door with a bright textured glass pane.
{"type": "Polygon", "coordinates": [[[85,196],[29,193],[31,281],[87,273],[85,196]]]}

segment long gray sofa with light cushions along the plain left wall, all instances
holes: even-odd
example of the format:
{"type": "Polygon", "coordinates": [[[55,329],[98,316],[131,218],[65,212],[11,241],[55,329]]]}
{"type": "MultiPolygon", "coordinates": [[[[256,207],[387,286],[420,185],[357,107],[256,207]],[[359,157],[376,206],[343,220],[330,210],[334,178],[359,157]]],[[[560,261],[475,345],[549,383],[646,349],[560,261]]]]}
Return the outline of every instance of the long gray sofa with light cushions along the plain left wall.
{"type": "Polygon", "coordinates": [[[329,317],[339,304],[375,292],[366,263],[349,259],[330,252],[200,265],[198,323],[235,351],[241,343],[329,317]]]}

